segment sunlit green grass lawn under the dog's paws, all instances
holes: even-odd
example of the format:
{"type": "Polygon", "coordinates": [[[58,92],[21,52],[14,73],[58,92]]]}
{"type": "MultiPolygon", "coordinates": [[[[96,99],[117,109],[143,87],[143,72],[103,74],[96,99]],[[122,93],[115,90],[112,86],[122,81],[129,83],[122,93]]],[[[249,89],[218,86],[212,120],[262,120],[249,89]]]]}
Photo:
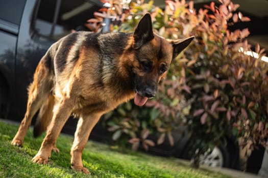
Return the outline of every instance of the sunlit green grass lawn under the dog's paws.
{"type": "Polygon", "coordinates": [[[115,146],[88,141],[83,152],[83,164],[91,172],[85,175],[70,168],[70,147],[73,137],[60,135],[57,147],[47,165],[32,163],[44,134],[34,139],[30,129],[23,147],[11,145],[18,129],[0,121],[0,177],[230,177],[206,169],[193,169],[175,158],[162,158],[125,151],[115,146]]]}

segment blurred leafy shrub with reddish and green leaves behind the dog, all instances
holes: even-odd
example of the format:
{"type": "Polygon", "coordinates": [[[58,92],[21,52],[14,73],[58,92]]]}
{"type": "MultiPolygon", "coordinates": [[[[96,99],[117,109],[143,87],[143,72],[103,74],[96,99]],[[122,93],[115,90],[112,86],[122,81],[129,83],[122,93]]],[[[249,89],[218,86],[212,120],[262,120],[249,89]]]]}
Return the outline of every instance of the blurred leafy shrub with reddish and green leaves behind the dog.
{"type": "MultiPolygon", "coordinates": [[[[196,40],[173,62],[157,96],[147,108],[133,102],[123,104],[106,116],[113,139],[127,137],[132,148],[142,143],[145,149],[155,143],[148,139],[157,135],[157,144],[186,124],[192,138],[192,154],[203,154],[222,141],[226,135],[239,138],[248,152],[267,137],[267,64],[261,61],[264,49],[251,50],[246,37],[249,30],[231,32],[228,26],[248,17],[237,12],[239,5],[218,1],[203,9],[193,8],[193,2],[165,1],[164,10],[148,4],[111,3],[96,18],[111,17],[111,31],[132,32],[139,18],[150,12],[155,32],[160,36],[179,39],[196,36],[196,40]],[[108,119],[107,119],[108,118],[108,119]],[[196,152],[198,150],[198,152],[196,152]]],[[[125,1],[126,2],[126,1],[125,1]]],[[[141,2],[141,3],[140,3],[141,2]]]]}

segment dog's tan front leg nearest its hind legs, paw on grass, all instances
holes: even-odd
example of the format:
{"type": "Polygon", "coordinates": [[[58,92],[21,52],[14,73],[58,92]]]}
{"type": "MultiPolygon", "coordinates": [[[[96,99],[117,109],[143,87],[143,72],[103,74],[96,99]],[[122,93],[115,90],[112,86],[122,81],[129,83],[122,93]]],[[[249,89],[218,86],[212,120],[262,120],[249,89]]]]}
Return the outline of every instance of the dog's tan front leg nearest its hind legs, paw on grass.
{"type": "Polygon", "coordinates": [[[56,144],[60,131],[71,114],[71,108],[72,102],[69,99],[59,102],[41,147],[32,160],[33,162],[38,164],[47,163],[48,157],[51,155],[51,151],[56,144]]]}

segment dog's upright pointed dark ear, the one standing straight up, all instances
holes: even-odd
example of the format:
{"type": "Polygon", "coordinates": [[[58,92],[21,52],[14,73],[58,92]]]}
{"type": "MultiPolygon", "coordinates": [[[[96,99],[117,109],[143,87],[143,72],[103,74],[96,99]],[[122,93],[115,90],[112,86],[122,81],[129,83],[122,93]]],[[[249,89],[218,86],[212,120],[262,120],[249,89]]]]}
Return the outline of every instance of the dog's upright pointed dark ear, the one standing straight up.
{"type": "Polygon", "coordinates": [[[152,19],[149,13],[141,17],[133,36],[135,40],[133,45],[134,49],[140,48],[143,44],[154,38],[152,19]]]}

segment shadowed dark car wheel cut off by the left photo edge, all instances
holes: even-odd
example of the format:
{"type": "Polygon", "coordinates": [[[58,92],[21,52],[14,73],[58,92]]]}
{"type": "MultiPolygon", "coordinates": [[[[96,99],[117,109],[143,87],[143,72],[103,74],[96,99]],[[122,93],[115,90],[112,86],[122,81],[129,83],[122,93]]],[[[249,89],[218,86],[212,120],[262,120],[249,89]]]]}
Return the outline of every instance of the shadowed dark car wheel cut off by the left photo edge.
{"type": "Polygon", "coordinates": [[[7,83],[0,77],[0,118],[7,118],[9,112],[9,92],[7,83]]]}

